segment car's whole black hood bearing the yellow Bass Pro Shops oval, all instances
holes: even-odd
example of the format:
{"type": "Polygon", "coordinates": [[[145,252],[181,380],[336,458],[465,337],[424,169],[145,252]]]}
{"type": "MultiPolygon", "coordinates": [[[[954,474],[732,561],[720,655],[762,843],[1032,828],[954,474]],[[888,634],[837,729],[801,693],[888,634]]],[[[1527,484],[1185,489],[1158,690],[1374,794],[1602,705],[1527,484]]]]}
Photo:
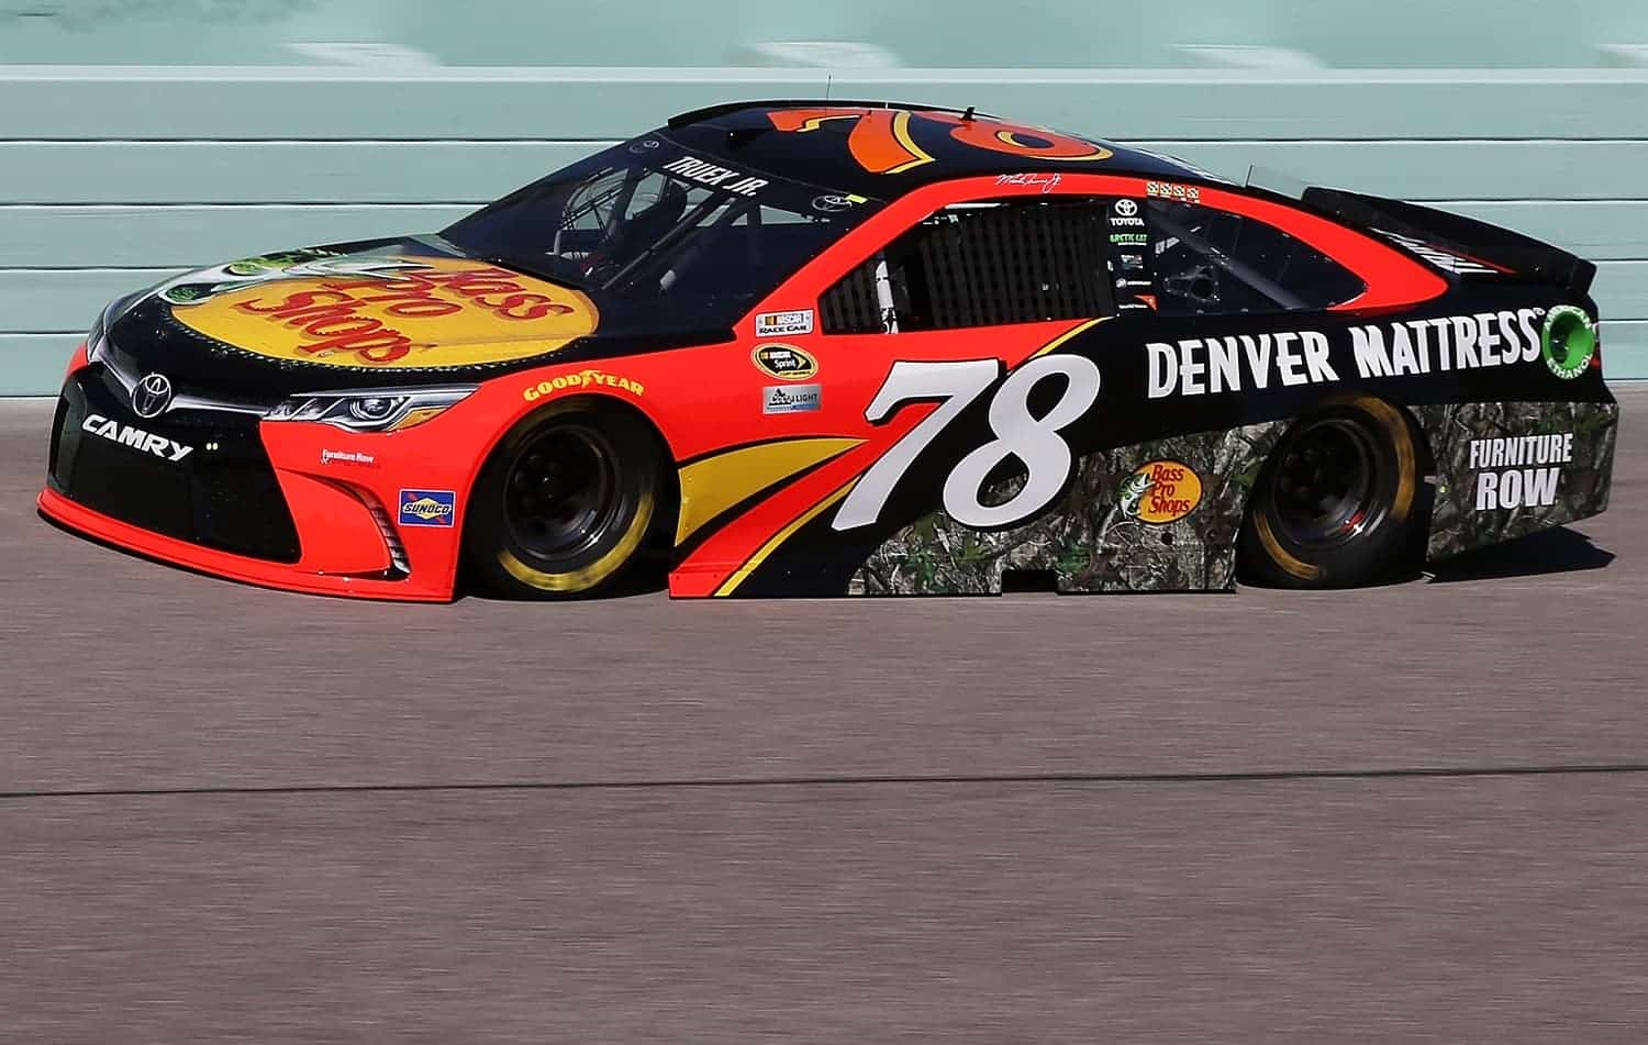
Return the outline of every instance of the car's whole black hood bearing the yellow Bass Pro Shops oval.
{"type": "Polygon", "coordinates": [[[704,344],[658,310],[391,239],[249,257],[170,279],[127,305],[110,351],[137,373],[272,402],[303,391],[475,381],[514,369],[704,344]],[[638,323],[636,318],[641,321],[638,323]]]}

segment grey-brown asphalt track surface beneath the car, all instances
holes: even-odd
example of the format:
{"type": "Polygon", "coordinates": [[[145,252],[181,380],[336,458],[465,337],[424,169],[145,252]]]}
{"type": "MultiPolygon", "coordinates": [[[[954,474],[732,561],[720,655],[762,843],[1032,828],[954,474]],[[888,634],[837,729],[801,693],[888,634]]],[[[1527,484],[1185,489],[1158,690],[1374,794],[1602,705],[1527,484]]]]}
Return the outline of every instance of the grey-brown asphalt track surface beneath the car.
{"type": "Polygon", "coordinates": [[[3,1042],[1641,1042],[1613,508],[1356,593],[354,603],[43,522],[3,1042]]]}

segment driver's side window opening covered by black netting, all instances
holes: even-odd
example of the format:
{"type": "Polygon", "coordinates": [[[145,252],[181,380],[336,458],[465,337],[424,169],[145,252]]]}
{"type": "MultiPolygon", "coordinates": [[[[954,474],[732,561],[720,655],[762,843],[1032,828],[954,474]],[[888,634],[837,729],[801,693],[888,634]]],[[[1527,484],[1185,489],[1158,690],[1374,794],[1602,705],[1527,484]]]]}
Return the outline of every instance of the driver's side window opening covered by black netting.
{"type": "Polygon", "coordinates": [[[1114,312],[1106,201],[944,208],[867,259],[819,310],[826,333],[1079,320],[1114,312]]]}

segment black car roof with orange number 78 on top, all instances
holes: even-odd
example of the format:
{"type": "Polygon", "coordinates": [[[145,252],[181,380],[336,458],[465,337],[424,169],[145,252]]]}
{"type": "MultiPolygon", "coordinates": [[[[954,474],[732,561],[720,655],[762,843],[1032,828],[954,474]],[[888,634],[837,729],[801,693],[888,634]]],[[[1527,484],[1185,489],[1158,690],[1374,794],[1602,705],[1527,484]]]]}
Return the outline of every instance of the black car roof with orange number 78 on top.
{"type": "MultiPolygon", "coordinates": [[[[1210,175],[1188,163],[1139,148],[1129,148],[1103,138],[1056,132],[1081,142],[1107,148],[1112,155],[1099,163],[1060,163],[1033,153],[1015,155],[994,148],[979,148],[953,137],[954,120],[1002,120],[972,109],[944,109],[941,105],[916,105],[885,101],[753,101],[727,102],[709,109],[684,112],[669,120],[666,134],[694,155],[723,162],[728,168],[751,168],[793,178],[811,185],[834,188],[878,199],[893,199],[910,190],[953,178],[1015,175],[1040,171],[1134,175],[1167,178],[1173,181],[1210,181],[1210,175]],[[855,127],[852,119],[826,119],[808,134],[783,134],[775,127],[773,114],[786,109],[888,109],[910,112],[946,114],[951,122],[911,119],[908,134],[931,162],[920,163],[900,173],[872,173],[849,150],[847,137],[855,127]]],[[[1010,120],[1004,120],[1010,122],[1010,120]]],[[[1033,125],[1017,125],[1035,137],[1033,125]]]]}

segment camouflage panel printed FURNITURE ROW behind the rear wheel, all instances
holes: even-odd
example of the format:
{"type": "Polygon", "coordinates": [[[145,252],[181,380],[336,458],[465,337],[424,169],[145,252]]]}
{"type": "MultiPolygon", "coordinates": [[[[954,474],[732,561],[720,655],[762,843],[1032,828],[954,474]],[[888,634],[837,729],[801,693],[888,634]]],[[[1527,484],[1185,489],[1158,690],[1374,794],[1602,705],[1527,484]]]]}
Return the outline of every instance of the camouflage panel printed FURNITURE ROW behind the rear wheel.
{"type": "Polygon", "coordinates": [[[1435,457],[1430,559],[1608,506],[1620,417],[1612,402],[1450,404],[1414,415],[1435,457]]]}

